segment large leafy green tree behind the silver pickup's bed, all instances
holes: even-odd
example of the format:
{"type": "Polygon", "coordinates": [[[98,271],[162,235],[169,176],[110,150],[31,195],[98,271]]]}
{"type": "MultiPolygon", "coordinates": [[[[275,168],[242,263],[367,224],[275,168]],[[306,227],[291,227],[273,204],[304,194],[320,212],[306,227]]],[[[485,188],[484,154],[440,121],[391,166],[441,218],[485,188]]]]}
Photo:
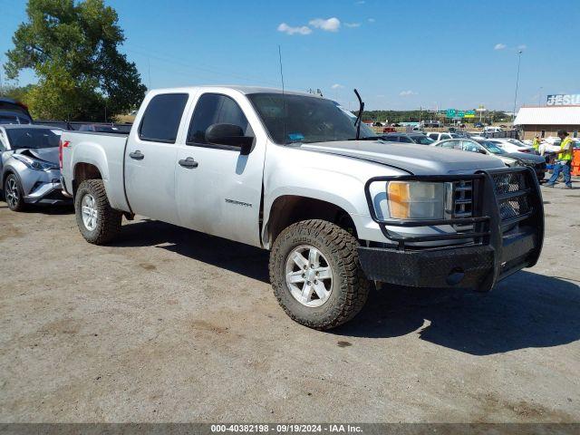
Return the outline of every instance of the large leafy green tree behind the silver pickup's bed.
{"type": "Polygon", "coordinates": [[[6,52],[5,73],[31,68],[25,101],[36,117],[102,121],[137,106],[146,91],[135,63],[119,53],[118,16],[102,0],[29,0],[28,20],[6,52]]]}

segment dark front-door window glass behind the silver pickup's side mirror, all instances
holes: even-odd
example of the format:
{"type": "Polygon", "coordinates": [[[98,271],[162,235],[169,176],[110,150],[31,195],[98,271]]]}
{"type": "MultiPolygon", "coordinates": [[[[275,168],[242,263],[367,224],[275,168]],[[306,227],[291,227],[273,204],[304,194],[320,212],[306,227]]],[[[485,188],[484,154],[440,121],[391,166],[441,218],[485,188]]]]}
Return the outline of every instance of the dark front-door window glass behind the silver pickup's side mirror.
{"type": "Polygon", "coordinates": [[[193,119],[189,125],[188,144],[208,144],[206,130],[212,124],[237,125],[246,136],[253,136],[246,115],[232,98],[217,93],[205,93],[199,97],[193,119]]]}

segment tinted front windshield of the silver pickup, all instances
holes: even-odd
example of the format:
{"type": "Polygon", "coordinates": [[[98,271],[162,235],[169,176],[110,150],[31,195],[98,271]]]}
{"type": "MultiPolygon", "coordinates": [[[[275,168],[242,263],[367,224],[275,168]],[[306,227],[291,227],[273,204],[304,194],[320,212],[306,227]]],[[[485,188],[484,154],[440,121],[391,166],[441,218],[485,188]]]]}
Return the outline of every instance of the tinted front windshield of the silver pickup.
{"type": "MultiPolygon", "coordinates": [[[[356,117],[337,102],[281,93],[252,93],[247,97],[275,143],[285,145],[356,138],[356,117]]],[[[375,136],[370,127],[361,125],[361,138],[375,136]]]]}

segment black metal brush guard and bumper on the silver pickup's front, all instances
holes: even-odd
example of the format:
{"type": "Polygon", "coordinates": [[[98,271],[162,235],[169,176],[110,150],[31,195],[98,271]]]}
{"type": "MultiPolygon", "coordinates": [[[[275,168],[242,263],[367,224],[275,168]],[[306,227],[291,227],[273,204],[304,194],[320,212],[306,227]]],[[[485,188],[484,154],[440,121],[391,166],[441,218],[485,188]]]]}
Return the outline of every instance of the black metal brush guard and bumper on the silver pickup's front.
{"type": "Polygon", "coordinates": [[[421,287],[470,287],[489,291],[502,278],[536,265],[544,240],[544,206],[530,168],[479,170],[469,175],[375,177],[365,184],[372,219],[395,247],[359,247],[369,279],[421,287]],[[381,219],[372,203],[373,182],[413,180],[472,183],[472,216],[433,220],[381,219]],[[515,189],[517,187],[517,189],[515,189]],[[521,188],[521,189],[520,189],[521,188]],[[518,224],[518,225],[516,225],[518,224]],[[387,227],[472,226],[457,234],[403,237],[387,227]],[[448,247],[417,242],[464,240],[448,247]]]}

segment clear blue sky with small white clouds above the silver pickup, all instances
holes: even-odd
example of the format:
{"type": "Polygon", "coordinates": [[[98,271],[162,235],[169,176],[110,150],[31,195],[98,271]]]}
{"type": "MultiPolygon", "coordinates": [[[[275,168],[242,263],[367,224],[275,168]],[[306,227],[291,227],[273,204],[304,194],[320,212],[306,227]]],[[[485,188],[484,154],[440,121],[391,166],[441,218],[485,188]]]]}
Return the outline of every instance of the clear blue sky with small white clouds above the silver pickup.
{"type": "MultiPolygon", "coordinates": [[[[320,88],[354,109],[511,111],[580,93],[580,1],[109,0],[122,50],[153,88],[202,83],[320,88]],[[542,88],[542,89],[540,89],[542,88]]],[[[25,19],[25,1],[0,0],[0,62],[25,19]]],[[[24,72],[20,84],[34,82],[24,72]]]]}

